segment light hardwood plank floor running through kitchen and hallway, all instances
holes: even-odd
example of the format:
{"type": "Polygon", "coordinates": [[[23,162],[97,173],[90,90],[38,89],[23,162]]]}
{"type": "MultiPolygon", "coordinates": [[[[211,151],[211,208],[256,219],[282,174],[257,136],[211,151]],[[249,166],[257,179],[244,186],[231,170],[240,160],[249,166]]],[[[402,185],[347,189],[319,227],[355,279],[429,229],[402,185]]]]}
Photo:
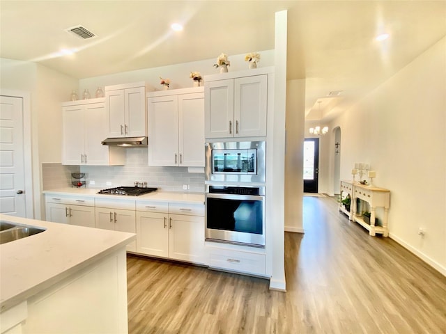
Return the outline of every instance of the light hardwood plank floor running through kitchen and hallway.
{"type": "Polygon", "coordinates": [[[287,292],[268,280],[128,256],[129,333],[446,333],[446,278],[369,237],[333,198],[285,233],[287,292]]]}

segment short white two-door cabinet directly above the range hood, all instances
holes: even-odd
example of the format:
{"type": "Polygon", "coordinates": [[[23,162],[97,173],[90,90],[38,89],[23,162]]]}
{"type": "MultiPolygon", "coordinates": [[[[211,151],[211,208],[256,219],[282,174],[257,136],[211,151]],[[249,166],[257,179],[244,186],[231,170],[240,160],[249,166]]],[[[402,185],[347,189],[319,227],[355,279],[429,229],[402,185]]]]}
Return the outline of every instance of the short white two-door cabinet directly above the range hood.
{"type": "Polygon", "coordinates": [[[147,136],[144,82],[105,87],[108,137],[147,136]]]}

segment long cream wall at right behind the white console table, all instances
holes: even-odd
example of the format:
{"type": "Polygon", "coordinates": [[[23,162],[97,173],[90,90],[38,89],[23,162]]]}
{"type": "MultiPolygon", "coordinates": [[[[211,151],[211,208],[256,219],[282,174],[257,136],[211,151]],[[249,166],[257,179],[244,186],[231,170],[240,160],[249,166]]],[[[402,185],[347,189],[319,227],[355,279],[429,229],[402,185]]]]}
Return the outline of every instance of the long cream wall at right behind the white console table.
{"type": "Polygon", "coordinates": [[[445,50],[443,38],[330,126],[341,128],[341,179],[370,164],[391,191],[390,237],[446,275],[445,50]]]}

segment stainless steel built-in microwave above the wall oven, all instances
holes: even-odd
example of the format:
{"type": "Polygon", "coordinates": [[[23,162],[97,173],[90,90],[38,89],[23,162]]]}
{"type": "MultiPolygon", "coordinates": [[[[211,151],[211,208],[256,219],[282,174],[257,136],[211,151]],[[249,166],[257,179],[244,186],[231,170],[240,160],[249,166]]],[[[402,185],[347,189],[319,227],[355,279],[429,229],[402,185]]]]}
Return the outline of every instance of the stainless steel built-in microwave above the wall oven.
{"type": "Polygon", "coordinates": [[[206,143],[206,182],[264,183],[265,141],[206,143]]]}

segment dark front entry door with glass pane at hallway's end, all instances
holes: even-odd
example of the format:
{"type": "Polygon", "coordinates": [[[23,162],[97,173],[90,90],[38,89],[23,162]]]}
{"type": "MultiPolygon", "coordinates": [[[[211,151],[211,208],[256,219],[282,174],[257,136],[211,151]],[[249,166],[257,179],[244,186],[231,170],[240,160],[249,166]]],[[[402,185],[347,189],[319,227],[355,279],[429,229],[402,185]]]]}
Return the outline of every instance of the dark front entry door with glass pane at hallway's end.
{"type": "Polygon", "coordinates": [[[305,138],[304,193],[318,192],[319,138],[305,138]]]}

